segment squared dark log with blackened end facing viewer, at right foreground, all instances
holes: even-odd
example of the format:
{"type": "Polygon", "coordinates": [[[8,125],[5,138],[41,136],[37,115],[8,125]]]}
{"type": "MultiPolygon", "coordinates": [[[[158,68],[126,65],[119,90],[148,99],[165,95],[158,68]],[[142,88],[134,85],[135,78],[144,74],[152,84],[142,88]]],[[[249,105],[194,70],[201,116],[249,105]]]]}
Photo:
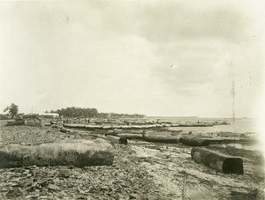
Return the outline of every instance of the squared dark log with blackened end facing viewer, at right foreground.
{"type": "Polygon", "coordinates": [[[194,147],[191,152],[192,159],[203,163],[224,174],[244,174],[243,160],[236,157],[209,151],[205,148],[194,147]]]}

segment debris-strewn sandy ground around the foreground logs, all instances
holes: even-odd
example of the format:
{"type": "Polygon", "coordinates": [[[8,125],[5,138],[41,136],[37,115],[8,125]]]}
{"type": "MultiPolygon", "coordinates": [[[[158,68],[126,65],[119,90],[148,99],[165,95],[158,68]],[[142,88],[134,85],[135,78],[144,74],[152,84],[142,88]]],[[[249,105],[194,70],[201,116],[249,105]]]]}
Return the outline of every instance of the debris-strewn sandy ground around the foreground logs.
{"type": "MultiPolygon", "coordinates": [[[[3,124],[0,131],[2,145],[80,137],[3,124]]],[[[113,145],[115,159],[109,167],[0,169],[0,199],[264,199],[263,166],[255,157],[241,157],[244,174],[222,174],[196,163],[192,147],[184,144],[130,140],[113,145]]],[[[208,148],[225,153],[223,145],[208,148]]]]}

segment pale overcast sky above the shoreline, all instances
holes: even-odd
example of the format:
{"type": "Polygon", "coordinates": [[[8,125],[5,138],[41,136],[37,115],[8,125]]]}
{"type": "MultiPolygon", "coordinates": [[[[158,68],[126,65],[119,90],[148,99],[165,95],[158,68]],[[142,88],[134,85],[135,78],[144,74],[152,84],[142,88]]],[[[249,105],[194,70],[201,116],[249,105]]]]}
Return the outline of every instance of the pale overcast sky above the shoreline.
{"type": "Polygon", "coordinates": [[[1,2],[0,109],[255,116],[261,2],[1,2]]]}

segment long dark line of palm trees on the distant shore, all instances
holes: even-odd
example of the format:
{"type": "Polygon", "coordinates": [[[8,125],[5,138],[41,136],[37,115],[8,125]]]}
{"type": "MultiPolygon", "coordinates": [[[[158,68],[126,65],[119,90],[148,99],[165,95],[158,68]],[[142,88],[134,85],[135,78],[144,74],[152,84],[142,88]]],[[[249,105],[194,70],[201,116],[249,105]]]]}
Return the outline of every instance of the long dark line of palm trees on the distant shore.
{"type": "Polygon", "coordinates": [[[81,108],[81,107],[66,107],[57,110],[51,110],[50,113],[57,113],[59,115],[63,115],[64,117],[144,117],[145,115],[139,114],[115,114],[115,113],[99,113],[96,108],[81,108]]]}

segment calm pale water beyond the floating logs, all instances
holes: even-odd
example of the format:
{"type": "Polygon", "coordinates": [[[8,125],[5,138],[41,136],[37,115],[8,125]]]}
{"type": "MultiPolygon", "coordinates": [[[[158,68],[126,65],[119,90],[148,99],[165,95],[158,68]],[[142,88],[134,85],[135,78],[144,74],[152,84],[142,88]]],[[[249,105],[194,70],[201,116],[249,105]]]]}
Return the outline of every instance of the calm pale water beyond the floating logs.
{"type": "Polygon", "coordinates": [[[239,118],[233,123],[231,119],[221,118],[198,118],[198,117],[150,117],[150,119],[160,119],[163,122],[197,122],[199,121],[226,121],[231,122],[230,125],[217,125],[213,127],[170,127],[170,130],[193,130],[201,132],[216,132],[216,131],[228,131],[228,132],[258,132],[256,121],[253,118],[239,118]]]}

